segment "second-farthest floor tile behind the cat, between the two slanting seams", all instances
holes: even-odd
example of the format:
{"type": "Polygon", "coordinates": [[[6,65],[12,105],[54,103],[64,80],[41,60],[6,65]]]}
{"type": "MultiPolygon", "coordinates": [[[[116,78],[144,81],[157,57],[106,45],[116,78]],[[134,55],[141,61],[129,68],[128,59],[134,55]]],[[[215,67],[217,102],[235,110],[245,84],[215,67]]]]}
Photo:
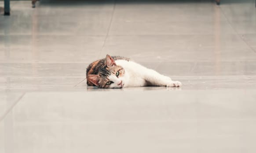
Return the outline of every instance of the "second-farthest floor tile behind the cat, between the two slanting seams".
{"type": "Polygon", "coordinates": [[[113,22],[110,28],[110,35],[214,35],[216,33],[235,34],[235,31],[226,21],[113,22]]]}

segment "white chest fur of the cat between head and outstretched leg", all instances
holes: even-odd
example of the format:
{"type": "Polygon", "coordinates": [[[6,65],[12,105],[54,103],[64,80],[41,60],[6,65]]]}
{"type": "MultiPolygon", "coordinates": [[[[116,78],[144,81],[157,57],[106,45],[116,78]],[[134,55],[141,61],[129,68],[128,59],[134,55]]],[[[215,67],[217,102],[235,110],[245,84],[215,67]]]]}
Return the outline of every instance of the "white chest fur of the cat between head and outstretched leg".
{"type": "Polygon", "coordinates": [[[116,60],[117,65],[124,68],[124,87],[143,87],[146,80],[143,77],[143,66],[126,60],[116,60]]]}

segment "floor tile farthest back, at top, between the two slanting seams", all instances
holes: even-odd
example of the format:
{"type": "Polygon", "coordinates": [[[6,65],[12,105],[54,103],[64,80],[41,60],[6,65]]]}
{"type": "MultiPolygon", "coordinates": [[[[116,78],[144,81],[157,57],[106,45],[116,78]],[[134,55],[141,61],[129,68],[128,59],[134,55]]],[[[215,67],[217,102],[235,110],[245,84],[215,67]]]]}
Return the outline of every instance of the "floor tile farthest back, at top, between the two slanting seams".
{"type": "Polygon", "coordinates": [[[225,21],[219,7],[213,3],[163,3],[140,4],[117,2],[113,21],[162,22],[162,21],[225,21]],[[143,6],[143,7],[142,7],[143,6]],[[140,14],[139,16],[136,14],[140,14]]]}

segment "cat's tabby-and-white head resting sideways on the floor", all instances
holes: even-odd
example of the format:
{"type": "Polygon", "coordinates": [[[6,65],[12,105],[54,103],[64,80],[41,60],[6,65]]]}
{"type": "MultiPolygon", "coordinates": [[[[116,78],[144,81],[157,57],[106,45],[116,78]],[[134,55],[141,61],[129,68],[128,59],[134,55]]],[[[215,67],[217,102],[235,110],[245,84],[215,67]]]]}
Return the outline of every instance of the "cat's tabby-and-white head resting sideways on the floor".
{"type": "Polygon", "coordinates": [[[124,87],[124,68],[118,66],[114,59],[106,55],[106,65],[99,70],[97,75],[89,74],[87,80],[99,88],[124,87]]]}

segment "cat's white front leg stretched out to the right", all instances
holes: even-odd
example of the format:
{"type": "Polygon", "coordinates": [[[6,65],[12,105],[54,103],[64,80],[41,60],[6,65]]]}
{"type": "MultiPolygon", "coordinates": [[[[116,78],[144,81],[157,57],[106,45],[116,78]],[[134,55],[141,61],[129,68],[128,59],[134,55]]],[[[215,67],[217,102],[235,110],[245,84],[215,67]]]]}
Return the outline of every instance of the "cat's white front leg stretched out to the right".
{"type": "Polygon", "coordinates": [[[144,79],[152,86],[181,87],[179,81],[173,81],[170,77],[162,75],[155,70],[145,69],[144,79]]]}

